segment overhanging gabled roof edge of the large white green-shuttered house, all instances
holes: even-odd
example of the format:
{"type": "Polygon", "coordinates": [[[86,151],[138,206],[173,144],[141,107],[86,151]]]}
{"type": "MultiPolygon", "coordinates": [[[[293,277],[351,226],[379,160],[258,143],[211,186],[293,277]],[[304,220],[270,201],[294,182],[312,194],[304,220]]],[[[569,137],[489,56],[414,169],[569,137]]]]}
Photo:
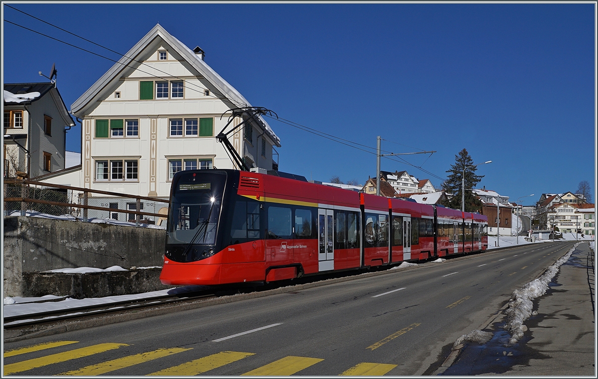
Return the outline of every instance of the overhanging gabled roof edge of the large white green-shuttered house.
{"type": "MultiPolygon", "coordinates": [[[[112,66],[102,77],[100,77],[84,94],[82,94],[74,103],[71,105],[71,112],[77,117],[83,118],[84,114],[89,113],[87,108],[95,106],[97,97],[105,96],[107,88],[118,81],[123,72],[130,70],[130,68],[136,68],[141,65],[139,60],[143,58],[140,54],[145,49],[151,48],[155,45],[157,48],[162,44],[162,41],[172,48],[179,56],[181,56],[185,62],[187,62],[193,69],[199,72],[206,80],[212,84],[216,90],[228,100],[231,108],[239,108],[243,106],[251,106],[249,102],[239,93],[232,85],[228,84],[220,75],[213,71],[197,54],[190,48],[182,44],[181,41],[170,35],[160,24],[156,24],[149,32],[142,38],[135,46],[131,48],[124,56],[118,60],[117,63],[112,66]]],[[[151,70],[153,71],[153,70],[151,70]]],[[[280,138],[274,134],[269,124],[260,116],[261,126],[269,135],[270,139],[280,147],[280,138]]]]}

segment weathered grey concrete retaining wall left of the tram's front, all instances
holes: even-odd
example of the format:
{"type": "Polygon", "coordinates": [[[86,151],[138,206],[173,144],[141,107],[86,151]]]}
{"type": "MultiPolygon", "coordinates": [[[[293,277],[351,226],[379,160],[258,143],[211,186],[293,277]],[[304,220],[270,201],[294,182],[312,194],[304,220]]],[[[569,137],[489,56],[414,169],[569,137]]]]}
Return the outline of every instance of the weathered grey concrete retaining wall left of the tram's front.
{"type": "Polygon", "coordinates": [[[161,266],[165,242],[166,231],[161,229],[5,216],[2,295],[24,294],[25,272],[161,266]]]}

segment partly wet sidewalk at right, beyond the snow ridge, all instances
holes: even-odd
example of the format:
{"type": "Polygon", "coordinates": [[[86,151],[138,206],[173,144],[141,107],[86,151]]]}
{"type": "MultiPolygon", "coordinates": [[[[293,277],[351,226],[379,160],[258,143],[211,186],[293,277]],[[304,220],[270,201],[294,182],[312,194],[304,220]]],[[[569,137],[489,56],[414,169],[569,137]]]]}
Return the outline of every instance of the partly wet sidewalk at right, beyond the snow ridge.
{"type": "Polygon", "coordinates": [[[596,377],[595,294],[594,254],[582,243],[533,301],[538,314],[524,322],[528,330],[517,344],[505,347],[509,334],[498,317],[484,329],[492,340],[469,343],[440,375],[596,377]]]}

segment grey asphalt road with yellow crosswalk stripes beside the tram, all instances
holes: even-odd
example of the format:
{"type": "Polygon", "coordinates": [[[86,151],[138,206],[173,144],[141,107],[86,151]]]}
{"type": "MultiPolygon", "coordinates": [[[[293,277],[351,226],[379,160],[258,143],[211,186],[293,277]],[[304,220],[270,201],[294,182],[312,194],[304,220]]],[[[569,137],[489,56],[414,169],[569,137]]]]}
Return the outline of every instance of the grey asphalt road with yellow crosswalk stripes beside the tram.
{"type": "Polygon", "coordinates": [[[529,244],[7,343],[4,374],[422,375],[572,246],[529,244]],[[74,342],[49,344],[58,341],[74,342]]]}

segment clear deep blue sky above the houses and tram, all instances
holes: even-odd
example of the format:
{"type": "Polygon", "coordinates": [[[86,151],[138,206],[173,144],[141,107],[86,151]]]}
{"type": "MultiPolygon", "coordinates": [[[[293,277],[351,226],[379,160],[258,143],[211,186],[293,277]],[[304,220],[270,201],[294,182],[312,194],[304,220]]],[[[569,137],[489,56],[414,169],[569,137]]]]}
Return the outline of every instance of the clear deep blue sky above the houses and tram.
{"type": "MultiPolygon", "coordinates": [[[[126,53],[156,23],[254,106],[386,151],[382,169],[440,178],[466,148],[478,188],[532,204],[595,184],[593,4],[11,4],[126,53]]],[[[56,62],[70,109],[119,56],[4,5],[4,82],[44,81],[56,62]]],[[[280,170],[363,184],[376,156],[269,120],[280,170]]],[[[80,126],[67,149],[80,151],[80,126]]],[[[594,199],[596,196],[594,195],[594,199]]]]}

